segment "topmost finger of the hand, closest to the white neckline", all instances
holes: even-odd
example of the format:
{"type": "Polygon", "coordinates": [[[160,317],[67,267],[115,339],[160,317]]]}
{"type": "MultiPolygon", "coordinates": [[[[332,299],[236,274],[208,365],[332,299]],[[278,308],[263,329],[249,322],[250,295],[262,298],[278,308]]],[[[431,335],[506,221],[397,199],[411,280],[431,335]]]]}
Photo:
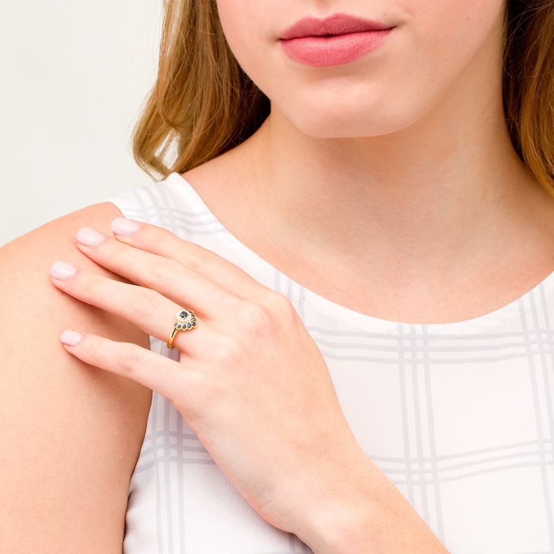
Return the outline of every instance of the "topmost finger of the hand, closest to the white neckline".
{"type": "Polygon", "coordinates": [[[252,300],[260,291],[260,283],[240,267],[167,229],[117,217],[111,222],[111,231],[120,242],[175,260],[240,298],[252,300]]]}

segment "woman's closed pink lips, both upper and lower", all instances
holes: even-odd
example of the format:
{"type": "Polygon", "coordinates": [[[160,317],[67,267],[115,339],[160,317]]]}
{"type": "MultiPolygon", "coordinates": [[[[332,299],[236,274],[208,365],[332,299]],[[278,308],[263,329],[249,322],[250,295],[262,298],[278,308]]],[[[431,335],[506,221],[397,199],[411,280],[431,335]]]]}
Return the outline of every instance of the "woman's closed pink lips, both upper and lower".
{"type": "Polygon", "coordinates": [[[307,17],[283,32],[283,50],[295,62],[314,67],[348,64],[380,46],[393,26],[337,14],[307,17]]]}

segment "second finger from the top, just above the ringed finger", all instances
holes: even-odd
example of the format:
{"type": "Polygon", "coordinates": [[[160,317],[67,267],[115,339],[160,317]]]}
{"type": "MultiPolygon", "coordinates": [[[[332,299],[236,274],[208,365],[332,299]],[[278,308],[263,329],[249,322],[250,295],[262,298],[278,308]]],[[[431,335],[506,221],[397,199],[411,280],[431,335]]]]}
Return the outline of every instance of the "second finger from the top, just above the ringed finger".
{"type": "MultiPolygon", "coordinates": [[[[134,248],[92,229],[81,229],[77,238],[80,251],[91,260],[134,283],[157,290],[172,301],[186,303],[193,309],[200,310],[197,303],[199,298],[202,299],[201,311],[205,318],[221,317],[222,314],[225,318],[231,317],[235,301],[240,298],[216,280],[198,274],[172,258],[134,248]]],[[[229,267],[234,266],[229,264],[229,267]]],[[[264,289],[260,284],[258,287],[264,289]]]]}

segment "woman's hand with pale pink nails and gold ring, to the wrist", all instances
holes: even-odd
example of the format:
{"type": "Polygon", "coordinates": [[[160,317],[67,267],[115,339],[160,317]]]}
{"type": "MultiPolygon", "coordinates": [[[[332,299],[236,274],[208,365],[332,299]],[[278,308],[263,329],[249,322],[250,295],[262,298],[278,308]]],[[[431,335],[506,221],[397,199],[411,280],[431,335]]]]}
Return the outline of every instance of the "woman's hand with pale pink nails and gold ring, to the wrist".
{"type": "Polygon", "coordinates": [[[79,248],[138,286],[60,264],[54,285],[163,341],[179,307],[197,328],[177,333],[179,362],[86,332],[65,332],[66,350],[168,397],[251,506],[308,542],[307,519],[350,494],[368,464],[319,349],[284,296],[230,262],[163,229],[115,223],[126,236],[80,231],[79,248]]]}

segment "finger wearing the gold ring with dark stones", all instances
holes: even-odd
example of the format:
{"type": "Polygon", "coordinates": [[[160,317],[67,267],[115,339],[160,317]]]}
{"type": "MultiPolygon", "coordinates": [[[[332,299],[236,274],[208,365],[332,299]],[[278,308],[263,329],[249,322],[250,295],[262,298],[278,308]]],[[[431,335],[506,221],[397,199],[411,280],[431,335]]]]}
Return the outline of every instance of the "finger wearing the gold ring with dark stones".
{"type": "MultiPolygon", "coordinates": [[[[51,267],[53,284],[78,300],[131,321],[144,332],[167,341],[182,305],[159,292],[138,285],[121,283],[64,262],[51,267]]],[[[177,332],[173,346],[188,355],[205,351],[213,344],[213,330],[197,316],[197,327],[177,332]],[[188,337],[194,333],[194,338],[188,337]],[[204,350],[203,350],[204,349],[204,350]]]]}

